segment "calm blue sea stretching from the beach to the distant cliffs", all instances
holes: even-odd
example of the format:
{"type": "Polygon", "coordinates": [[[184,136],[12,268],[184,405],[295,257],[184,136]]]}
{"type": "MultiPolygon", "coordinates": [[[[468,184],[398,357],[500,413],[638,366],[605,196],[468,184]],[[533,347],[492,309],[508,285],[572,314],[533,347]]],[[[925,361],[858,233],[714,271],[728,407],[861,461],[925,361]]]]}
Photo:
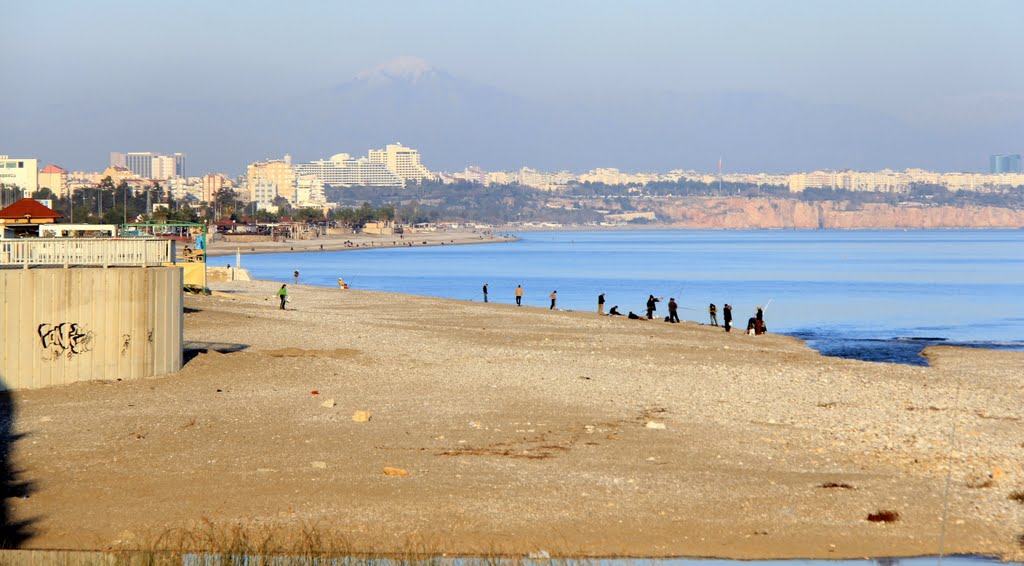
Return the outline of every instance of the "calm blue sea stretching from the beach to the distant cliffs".
{"type": "MultiPolygon", "coordinates": [[[[733,306],[745,328],[767,305],[769,332],[827,355],[924,363],[930,344],[1024,350],[1024,230],[563,231],[509,244],[244,256],[256,278],[523,304],[644,312],[675,297],[684,319],[733,306]]],[[[211,258],[212,265],[234,256],[211,258]]]]}

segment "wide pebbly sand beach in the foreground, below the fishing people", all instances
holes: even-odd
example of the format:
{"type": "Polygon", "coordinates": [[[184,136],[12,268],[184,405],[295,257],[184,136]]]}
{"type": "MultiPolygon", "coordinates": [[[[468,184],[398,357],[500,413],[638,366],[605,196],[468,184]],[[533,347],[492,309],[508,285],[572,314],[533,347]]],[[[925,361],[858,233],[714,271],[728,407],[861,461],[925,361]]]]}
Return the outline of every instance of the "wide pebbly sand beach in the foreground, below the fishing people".
{"type": "Polygon", "coordinates": [[[693,322],[291,285],[282,311],[279,287],[186,297],[186,347],[229,353],[191,350],[179,374],[14,393],[26,548],[212,524],[353,552],[935,555],[951,465],[944,551],[1024,558],[1024,353],[867,363],[693,322]]]}

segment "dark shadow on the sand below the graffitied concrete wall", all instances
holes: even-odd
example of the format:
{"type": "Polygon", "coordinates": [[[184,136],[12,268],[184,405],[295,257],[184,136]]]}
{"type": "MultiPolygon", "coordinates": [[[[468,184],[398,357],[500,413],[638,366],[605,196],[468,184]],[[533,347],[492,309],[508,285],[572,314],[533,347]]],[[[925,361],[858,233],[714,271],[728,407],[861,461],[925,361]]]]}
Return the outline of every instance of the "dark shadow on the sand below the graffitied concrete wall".
{"type": "Polygon", "coordinates": [[[24,435],[14,434],[14,396],[0,376],[0,549],[17,549],[32,538],[33,520],[15,521],[11,517],[10,499],[26,498],[33,492],[32,483],[18,478],[22,470],[14,470],[11,453],[14,443],[24,435]]]}

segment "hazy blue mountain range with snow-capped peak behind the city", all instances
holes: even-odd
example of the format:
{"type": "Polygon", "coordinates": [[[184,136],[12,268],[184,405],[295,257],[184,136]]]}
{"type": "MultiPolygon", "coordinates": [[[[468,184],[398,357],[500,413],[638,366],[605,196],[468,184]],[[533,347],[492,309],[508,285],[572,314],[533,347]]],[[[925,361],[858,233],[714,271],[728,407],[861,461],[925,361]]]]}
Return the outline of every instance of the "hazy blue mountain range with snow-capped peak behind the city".
{"type": "Polygon", "coordinates": [[[205,96],[135,90],[118,100],[14,107],[0,139],[5,153],[34,153],[70,169],[100,168],[111,150],[181,150],[196,173],[239,173],[286,153],[299,161],[360,156],[394,141],[420,149],[435,170],[572,171],[713,171],[720,157],[727,171],[982,170],[988,154],[1024,145],[1024,124],[937,133],[862,107],[763,92],[658,93],[641,85],[628,97],[541,102],[415,57],[276,101],[205,96]]]}

